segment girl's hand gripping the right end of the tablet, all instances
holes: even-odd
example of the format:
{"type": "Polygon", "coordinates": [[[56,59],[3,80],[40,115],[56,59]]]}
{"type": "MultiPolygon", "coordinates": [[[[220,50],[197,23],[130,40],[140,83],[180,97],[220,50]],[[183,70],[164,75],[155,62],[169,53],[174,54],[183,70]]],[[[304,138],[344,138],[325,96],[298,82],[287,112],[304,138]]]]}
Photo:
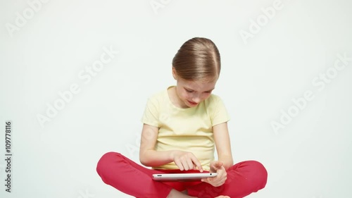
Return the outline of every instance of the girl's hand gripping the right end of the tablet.
{"type": "Polygon", "coordinates": [[[210,173],[218,173],[214,178],[203,178],[202,182],[208,182],[214,187],[223,185],[227,179],[227,172],[221,161],[210,162],[210,173]]]}

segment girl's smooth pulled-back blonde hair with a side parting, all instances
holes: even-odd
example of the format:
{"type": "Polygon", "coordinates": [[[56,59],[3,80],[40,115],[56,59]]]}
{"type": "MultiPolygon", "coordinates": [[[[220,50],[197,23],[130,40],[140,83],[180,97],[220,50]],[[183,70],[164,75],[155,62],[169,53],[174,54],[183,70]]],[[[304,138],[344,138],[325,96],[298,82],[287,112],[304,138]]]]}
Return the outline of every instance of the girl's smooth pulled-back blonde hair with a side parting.
{"type": "Polygon", "coordinates": [[[177,76],[184,80],[213,82],[218,80],[221,63],[218,47],[201,37],[189,39],[182,44],[172,59],[177,76]]]}

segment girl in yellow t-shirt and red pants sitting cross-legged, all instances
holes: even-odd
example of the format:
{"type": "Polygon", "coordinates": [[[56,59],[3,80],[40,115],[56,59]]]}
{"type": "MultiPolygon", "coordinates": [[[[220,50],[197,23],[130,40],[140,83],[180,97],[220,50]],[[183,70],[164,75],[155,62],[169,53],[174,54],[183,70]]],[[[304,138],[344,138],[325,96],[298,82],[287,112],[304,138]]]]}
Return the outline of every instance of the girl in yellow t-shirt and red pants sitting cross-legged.
{"type": "Polygon", "coordinates": [[[149,98],[142,117],[139,159],[109,152],[96,171],[103,182],[134,197],[245,197],[265,187],[268,173],[258,161],[233,165],[227,114],[211,94],[220,75],[220,54],[206,38],[185,42],[172,60],[176,86],[149,98]],[[218,151],[218,160],[214,151],[218,151]],[[156,173],[218,173],[197,182],[156,182],[156,173]]]}

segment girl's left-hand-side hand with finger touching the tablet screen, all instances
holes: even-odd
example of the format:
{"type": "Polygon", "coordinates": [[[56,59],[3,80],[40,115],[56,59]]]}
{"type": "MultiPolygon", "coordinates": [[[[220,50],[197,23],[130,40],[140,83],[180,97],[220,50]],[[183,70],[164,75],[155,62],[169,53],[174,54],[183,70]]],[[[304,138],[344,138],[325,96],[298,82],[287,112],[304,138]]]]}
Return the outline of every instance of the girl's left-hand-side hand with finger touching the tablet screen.
{"type": "Polygon", "coordinates": [[[201,162],[191,152],[172,151],[171,157],[176,166],[180,168],[181,171],[188,171],[198,168],[199,171],[203,172],[201,162]]]}

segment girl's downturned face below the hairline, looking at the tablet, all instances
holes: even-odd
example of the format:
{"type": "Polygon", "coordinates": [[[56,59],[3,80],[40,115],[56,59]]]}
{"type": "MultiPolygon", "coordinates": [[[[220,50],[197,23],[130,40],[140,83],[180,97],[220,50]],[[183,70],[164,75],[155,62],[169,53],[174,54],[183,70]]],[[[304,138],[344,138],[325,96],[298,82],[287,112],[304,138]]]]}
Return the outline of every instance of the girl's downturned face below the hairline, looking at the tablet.
{"type": "MultiPolygon", "coordinates": [[[[175,75],[174,75],[175,76],[175,75]]],[[[179,97],[180,105],[187,107],[197,106],[201,101],[210,97],[211,92],[215,89],[215,82],[199,82],[189,81],[182,78],[177,78],[177,96],[179,97]]]]}

